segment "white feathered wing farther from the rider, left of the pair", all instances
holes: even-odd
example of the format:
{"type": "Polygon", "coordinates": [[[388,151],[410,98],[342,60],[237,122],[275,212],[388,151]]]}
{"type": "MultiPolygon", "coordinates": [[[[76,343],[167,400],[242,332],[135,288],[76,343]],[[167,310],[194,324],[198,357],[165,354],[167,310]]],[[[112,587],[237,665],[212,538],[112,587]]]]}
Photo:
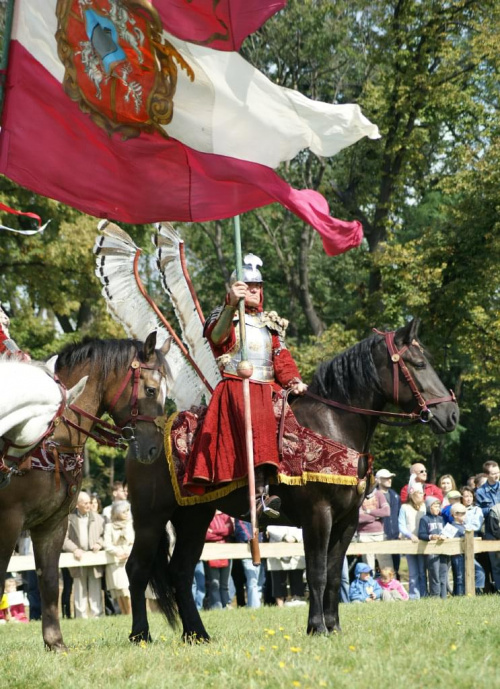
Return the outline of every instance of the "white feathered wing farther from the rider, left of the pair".
{"type": "MultiPolygon", "coordinates": [[[[117,225],[103,221],[98,229],[101,236],[94,245],[96,275],[103,285],[102,295],[109,313],[129,337],[144,341],[156,330],[157,347],[161,347],[170,333],[140,289],[134,268],[141,249],[117,225]]],[[[167,354],[167,361],[173,378],[169,397],[177,408],[189,409],[200,404],[203,395],[208,396],[209,391],[175,341],[167,354]]]]}

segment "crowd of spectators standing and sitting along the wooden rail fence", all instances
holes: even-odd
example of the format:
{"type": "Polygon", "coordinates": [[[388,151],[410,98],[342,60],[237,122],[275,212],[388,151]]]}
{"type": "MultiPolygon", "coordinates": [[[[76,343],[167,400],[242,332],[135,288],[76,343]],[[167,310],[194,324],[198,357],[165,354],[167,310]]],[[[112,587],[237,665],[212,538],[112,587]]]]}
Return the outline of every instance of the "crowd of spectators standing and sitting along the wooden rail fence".
{"type": "MultiPolygon", "coordinates": [[[[392,488],[395,474],[381,469],[374,490],[366,495],[359,511],[353,543],[412,542],[461,538],[466,530],[488,540],[500,540],[500,468],[485,462],[482,473],[471,476],[458,488],[450,474],[437,485],[427,480],[427,470],[417,463],[410,468],[408,483],[400,494],[392,488]]],[[[206,535],[209,543],[247,543],[248,522],[219,511],[206,535]]],[[[271,543],[302,542],[296,527],[272,526],[261,534],[271,543]]],[[[29,552],[23,534],[19,552],[29,552]]],[[[102,509],[96,494],[79,494],[69,516],[63,551],[73,553],[75,566],[62,570],[61,607],[64,617],[100,617],[130,614],[130,593],[125,565],[134,542],[134,528],[126,486],[115,481],[112,502],[102,509]],[[85,552],[104,550],[114,561],[105,566],[80,566],[85,552]],[[71,608],[73,603],[73,610],[71,608]]],[[[381,548],[381,551],[383,547],[381,548]]],[[[345,558],[340,599],[342,602],[405,601],[425,596],[446,598],[465,593],[464,556],[406,555],[407,576],[401,556],[383,552],[345,558]]],[[[478,553],[474,562],[476,593],[500,593],[500,552],[478,553]]],[[[0,624],[40,618],[36,577],[27,572],[21,579],[8,575],[0,599],[0,624]],[[22,586],[24,591],[19,590],[22,586]],[[29,605],[29,618],[25,604],[29,605]]],[[[305,560],[302,556],[272,557],[255,566],[251,559],[226,558],[200,561],[193,580],[198,609],[230,609],[236,603],[258,608],[261,604],[305,605],[305,560]]],[[[150,595],[153,599],[152,594],[150,595]]],[[[155,609],[154,601],[150,608],[155,609]]]]}

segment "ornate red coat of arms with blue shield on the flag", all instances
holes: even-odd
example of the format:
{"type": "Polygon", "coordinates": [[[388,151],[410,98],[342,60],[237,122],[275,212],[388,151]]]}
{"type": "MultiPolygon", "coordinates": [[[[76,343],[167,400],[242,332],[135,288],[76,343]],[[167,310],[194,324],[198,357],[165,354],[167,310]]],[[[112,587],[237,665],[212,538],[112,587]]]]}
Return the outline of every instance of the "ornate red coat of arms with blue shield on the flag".
{"type": "Polygon", "coordinates": [[[162,35],[147,0],[58,0],[63,88],[108,133],[160,132],[173,115],[177,65],[194,72],[162,35]]]}

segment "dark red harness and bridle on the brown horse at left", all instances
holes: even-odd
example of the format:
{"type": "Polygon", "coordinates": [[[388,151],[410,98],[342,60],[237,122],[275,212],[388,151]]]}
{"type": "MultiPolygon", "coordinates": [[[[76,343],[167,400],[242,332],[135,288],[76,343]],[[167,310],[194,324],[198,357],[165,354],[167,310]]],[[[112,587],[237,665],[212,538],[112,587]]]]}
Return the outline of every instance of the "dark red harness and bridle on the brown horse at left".
{"type": "MultiPolygon", "coordinates": [[[[65,446],[52,440],[51,436],[54,434],[54,431],[59,425],[59,423],[62,422],[66,427],[71,427],[79,431],[80,433],[83,433],[85,436],[87,436],[87,438],[92,438],[93,440],[95,440],[99,445],[104,445],[106,447],[117,447],[120,449],[126,448],[125,441],[130,442],[135,439],[135,427],[138,421],[142,421],[144,423],[153,423],[156,425],[158,431],[161,432],[164,426],[163,416],[154,417],[139,414],[138,391],[142,369],[147,369],[150,371],[159,371],[162,377],[164,377],[165,375],[161,371],[161,364],[156,366],[150,366],[148,364],[142,363],[138,359],[134,359],[132,361],[128,368],[127,374],[123,379],[122,383],[120,384],[120,387],[118,388],[118,391],[113,397],[111,405],[108,409],[108,413],[111,414],[115,409],[116,405],[118,404],[118,401],[120,400],[120,397],[125,391],[130,380],[133,379],[132,392],[130,397],[130,416],[126,419],[123,426],[117,426],[115,424],[110,424],[106,421],[103,421],[99,417],[90,414],[89,412],[86,412],[84,409],[81,409],[76,404],[68,405],[68,409],[70,409],[72,412],[79,416],[83,416],[86,419],[89,419],[93,422],[94,432],[83,428],[79,423],[71,421],[64,415],[67,401],[67,388],[65,387],[64,383],[62,383],[61,380],[59,380],[58,376],[54,375],[54,380],[60,386],[61,389],[61,404],[59,405],[59,408],[54,418],[50,422],[47,430],[37,439],[35,443],[35,449],[28,450],[26,454],[20,457],[15,455],[9,455],[9,449],[22,448],[26,446],[17,445],[15,443],[12,443],[8,439],[2,439],[4,445],[2,450],[0,451],[0,474],[7,474],[7,480],[9,482],[11,475],[22,476],[26,471],[29,471],[31,469],[32,458],[36,458],[40,462],[44,462],[46,461],[46,454],[50,454],[54,459],[56,489],[59,490],[60,473],[62,472],[68,484],[68,494],[70,496],[73,496],[77,490],[77,476],[81,470],[81,457],[84,445],[81,444],[65,446]],[[73,477],[71,477],[68,471],[66,470],[66,462],[63,461],[63,457],[70,458],[72,460],[72,463],[76,464],[73,477]],[[5,463],[6,461],[12,462],[14,466],[8,466],[5,463]]],[[[33,448],[33,445],[30,445],[29,447],[33,448]]]]}

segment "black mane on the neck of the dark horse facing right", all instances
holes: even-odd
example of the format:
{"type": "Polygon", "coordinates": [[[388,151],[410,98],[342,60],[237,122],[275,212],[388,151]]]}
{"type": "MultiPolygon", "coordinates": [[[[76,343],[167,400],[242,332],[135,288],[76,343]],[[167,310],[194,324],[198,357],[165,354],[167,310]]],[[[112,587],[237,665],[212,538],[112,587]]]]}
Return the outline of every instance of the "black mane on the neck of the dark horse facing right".
{"type": "Polygon", "coordinates": [[[349,349],[321,363],[309,390],[321,397],[352,404],[358,393],[381,392],[380,378],[373,361],[372,349],[380,335],[358,342],[349,349]]]}

